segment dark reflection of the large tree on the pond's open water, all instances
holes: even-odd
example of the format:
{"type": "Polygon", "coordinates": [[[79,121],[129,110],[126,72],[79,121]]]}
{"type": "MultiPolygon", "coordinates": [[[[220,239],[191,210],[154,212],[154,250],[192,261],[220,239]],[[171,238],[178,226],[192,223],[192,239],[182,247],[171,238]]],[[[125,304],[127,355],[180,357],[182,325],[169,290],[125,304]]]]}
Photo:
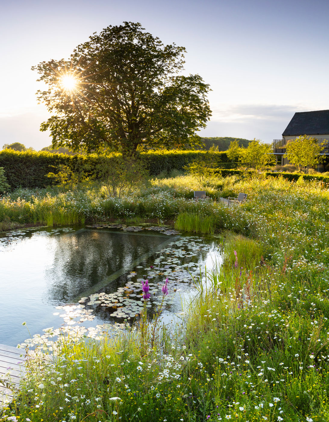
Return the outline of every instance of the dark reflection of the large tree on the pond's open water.
{"type": "Polygon", "coordinates": [[[167,236],[83,230],[61,236],[46,269],[48,303],[69,303],[101,280],[154,251],[167,236]]]}

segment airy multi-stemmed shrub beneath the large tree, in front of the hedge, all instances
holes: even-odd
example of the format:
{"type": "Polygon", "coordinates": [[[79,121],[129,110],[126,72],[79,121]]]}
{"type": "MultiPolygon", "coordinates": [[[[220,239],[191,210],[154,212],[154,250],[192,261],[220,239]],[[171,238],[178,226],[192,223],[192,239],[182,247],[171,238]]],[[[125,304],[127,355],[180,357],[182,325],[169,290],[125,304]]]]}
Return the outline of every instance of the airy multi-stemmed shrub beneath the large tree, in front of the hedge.
{"type": "Polygon", "coordinates": [[[145,165],[140,159],[114,153],[99,156],[95,170],[108,197],[131,195],[145,183],[147,177],[145,165]]]}

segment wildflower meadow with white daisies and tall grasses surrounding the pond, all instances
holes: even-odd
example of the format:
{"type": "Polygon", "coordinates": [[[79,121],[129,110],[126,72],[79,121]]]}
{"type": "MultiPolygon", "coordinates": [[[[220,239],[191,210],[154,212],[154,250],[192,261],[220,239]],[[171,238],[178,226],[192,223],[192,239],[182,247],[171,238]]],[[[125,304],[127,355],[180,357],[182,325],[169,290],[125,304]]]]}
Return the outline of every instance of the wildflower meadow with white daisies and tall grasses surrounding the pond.
{"type": "MultiPolygon", "coordinates": [[[[206,283],[196,280],[199,295],[183,325],[153,330],[153,320],[149,333],[135,327],[114,338],[101,327],[77,329],[80,340],[66,331],[56,361],[30,362],[30,380],[3,420],[329,420],[329,191],[281,179],[207,183],[214,195],[231,189],[248,193],[248,201],[195,203],[196,182],[182,177],[155,180],[123,202],[92,191],[81,196],[89,198],[86,218],[119,218],[119,210],[209,217],[224,230],[224,265],[208,271],[206,283]]],[[[43,200],[61,195],[74,194],[43,200]]],[[[7,198],[6,206],[22,200],[7,198]]],[[[82,311],[74,310],[76,318],[82,311]]],[[[50,329],[35,342],[49,347],[52,338],[50,329]]]]}

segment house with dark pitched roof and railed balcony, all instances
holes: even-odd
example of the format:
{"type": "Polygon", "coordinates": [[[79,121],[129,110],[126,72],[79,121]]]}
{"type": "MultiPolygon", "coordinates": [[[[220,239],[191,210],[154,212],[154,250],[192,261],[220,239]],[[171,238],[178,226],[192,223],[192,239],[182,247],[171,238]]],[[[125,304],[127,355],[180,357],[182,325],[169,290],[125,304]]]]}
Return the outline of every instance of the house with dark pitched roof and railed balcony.
{"type": "Polygon", "coordinates": [[[329,156],[329,110],[302,111],[295,113],[286,129],[282,139],[273,139],[273,153],[276,155],[278,165],[289,164],[283,157],[286,153],[286,145],[290,139],[296,139],[300,135],[307,135],[318,139],[319,143],[326,145],[321,154],[329,156]]]}

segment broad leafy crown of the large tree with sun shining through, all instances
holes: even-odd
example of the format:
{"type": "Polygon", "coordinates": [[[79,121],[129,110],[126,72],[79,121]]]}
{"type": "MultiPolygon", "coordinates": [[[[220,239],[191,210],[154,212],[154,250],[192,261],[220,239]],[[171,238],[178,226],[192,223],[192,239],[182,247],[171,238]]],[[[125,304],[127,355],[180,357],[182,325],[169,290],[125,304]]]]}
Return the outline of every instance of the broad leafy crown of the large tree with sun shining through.
{"type": "Polygon", "coordinates": [[[182,148],[200,140],[211,111],[209,85],[183,76],[184,47],[164,45],[139,23],[109,26],[69,60],[33,66],[48,89],[37,92],[53,115],[41,124],[53,144],[124,152],[138,145],[182,148]]]}

